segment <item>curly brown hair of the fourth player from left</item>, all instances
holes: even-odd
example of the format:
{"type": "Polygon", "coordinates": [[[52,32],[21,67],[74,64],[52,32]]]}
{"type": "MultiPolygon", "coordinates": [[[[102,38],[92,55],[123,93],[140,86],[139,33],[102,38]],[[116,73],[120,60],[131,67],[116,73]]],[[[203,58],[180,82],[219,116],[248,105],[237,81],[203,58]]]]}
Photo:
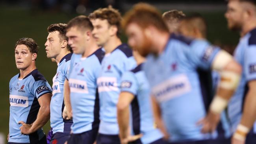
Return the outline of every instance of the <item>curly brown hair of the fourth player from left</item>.
{"type": "Polygon", "coordinates": [[[101,19],[107,20],[109,25],[117,27],[117,36],[120,37],[122,29],[121,29],[121,14],[117,9],[114,9],[112,6],[108,6],[105,8],[99,8],[93,13],[89,15],[90,19],[101,19]]]}

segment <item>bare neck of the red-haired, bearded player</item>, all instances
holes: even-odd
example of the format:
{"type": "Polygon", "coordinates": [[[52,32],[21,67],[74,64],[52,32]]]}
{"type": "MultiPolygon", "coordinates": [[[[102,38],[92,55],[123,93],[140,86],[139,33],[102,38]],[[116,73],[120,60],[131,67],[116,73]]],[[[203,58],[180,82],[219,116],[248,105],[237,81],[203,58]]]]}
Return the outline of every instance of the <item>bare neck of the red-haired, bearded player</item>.
{"type": "Polygon", "coordinates": [[[154,47],[157,49],[158,54],[161,54],[163,50],[165,49],[168,41],[169,41],[170,33],[168,32],[158,32],[155,35],[155,38],[153,39],[154,42],[154,47]]]}

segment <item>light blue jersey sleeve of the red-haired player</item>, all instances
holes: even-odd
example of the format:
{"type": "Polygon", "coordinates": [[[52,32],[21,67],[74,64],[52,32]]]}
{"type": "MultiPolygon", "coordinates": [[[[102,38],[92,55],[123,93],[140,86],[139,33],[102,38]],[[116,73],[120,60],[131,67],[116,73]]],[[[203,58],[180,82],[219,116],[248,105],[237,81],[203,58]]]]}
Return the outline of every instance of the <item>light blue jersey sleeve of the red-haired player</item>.
{"type": "Polygon", "coordinates": [[[185,51],[188,60],[196,67],[208,70],[219,50],[219,47],[211,45],[208,41],[194,40],[185,51]]]}

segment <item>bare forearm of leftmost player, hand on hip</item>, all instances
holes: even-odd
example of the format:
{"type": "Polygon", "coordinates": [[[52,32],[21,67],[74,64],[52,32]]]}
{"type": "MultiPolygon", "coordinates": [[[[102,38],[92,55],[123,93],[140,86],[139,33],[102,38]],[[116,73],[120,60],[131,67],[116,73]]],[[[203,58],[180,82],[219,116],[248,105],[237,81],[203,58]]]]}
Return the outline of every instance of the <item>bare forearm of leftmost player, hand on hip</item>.
{"type": "Polygon", "coordinates": [[[37,114],[37,119],[32,123],[31,131],[35,132],[37,131],[37,129],[40,129],[41,127],[45,126],[49,119],[50,105],[41,106],[37,114]]]}

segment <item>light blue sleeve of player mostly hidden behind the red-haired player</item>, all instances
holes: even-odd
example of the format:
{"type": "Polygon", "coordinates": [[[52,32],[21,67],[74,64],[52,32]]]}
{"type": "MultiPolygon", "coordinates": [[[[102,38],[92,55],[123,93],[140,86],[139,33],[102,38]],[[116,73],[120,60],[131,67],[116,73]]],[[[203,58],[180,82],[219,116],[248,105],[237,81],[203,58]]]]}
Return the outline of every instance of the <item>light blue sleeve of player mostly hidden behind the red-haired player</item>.
{"type": "Polygon", "coordinates": [[[121,78],[121,92],[130,92],[136,96],[138,87],[134,73],[130,71],[124,72],[121,78]]]}

